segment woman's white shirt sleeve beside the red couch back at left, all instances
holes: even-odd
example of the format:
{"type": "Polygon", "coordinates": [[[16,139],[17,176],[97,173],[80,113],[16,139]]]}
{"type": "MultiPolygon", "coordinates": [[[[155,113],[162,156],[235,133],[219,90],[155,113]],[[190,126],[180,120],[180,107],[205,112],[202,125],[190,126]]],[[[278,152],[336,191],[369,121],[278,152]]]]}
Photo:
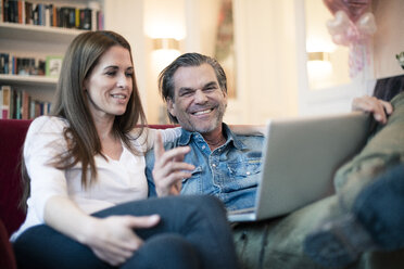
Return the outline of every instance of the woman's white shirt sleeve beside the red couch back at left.
{"type": "Polygon", "coordinates": [[[41,116],[29,126],[24,143],[24,161],[30,178],[29,207],[43,221],[48,198],[54,195],[67,196],[64,170],[50,163],[66,150],[63,129],[66,124],[58,117],[41,116]]]}

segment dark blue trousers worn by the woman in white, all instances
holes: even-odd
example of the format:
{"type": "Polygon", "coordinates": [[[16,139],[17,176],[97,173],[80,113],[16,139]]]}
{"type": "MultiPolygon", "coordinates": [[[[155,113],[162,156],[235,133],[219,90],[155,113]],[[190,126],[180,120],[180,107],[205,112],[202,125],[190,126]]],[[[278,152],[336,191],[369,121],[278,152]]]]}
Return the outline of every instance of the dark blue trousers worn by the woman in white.
{"type": "MultiPolygon", "coordinates": [[[[230,228],[222,203],[212,196],[171,196],[114,206],[93,214],[146,216],[160,223],[137,229],[144,244],[119,268],[238,268],[230,228]]],[[[40,225],[13,243],[18,268],[113,268],[92,251],[40,225]]]]}

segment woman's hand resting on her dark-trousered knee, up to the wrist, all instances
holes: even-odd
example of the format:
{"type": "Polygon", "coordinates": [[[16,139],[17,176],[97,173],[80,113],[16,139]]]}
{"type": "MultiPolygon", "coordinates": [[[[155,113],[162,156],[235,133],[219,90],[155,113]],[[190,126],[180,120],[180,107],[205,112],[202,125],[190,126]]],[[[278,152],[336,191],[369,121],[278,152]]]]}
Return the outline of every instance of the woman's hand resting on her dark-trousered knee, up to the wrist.
{"type": "Polygon", "coordinates": [[[87,227],[88,235],[83,239],[81,243],[88,245],[100,259],[112,266],[118,266],[130,258],[134,252],[143,244],[134,229],[151,228],[159,221],[157,215],[94,218],[87,227]]]}

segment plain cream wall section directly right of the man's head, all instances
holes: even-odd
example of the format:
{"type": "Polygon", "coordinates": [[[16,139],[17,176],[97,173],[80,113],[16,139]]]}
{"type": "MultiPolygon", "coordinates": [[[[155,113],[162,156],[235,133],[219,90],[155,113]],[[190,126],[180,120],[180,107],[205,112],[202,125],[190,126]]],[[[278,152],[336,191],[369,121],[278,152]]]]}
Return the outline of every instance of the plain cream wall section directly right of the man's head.
{"type": "Polygon", "coordinates": [[[294,4],[235,0],[238,99],[225,120],[265,124],[296,114],[294,4]]]}

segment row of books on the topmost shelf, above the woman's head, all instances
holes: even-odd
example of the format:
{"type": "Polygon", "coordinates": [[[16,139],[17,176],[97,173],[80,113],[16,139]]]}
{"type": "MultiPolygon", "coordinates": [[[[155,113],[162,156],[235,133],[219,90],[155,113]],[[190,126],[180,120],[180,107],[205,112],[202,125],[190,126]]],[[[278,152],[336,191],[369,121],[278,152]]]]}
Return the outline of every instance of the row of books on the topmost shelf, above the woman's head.
{"type": "Polygon", "coordinates": [[[100,10],[56,7],[24,0],[0,0],[0,22],[43,25],[85,30],[103,29],[100,10]]]}

